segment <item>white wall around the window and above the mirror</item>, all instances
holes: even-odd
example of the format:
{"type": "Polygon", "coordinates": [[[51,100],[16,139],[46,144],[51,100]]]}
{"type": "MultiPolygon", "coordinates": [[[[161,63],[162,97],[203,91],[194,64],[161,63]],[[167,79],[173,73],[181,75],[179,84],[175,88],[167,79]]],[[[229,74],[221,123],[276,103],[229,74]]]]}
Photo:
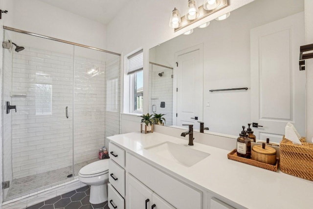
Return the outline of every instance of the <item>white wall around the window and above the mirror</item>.
{"type": "MultiPolygon", "coordinates": [[[[177,7],[181,13],[184,12],[185,0],[131,0],[121,9],[115,18],[107,25],[107,48],[108,50],[121,52],[124,55],[140,47],[143,48],[144,113],[148,112],[149,103],[149,49],[251,1],[253,0],[230,0],[230,6],[176,33],[174,29],[168,26],[169,18],[174,7],[177,7]]],[[[123,120],[123,118],[129,118],[129,116],[122,116],[123,133],[126,130],[132,130],[130,127],[136,127],[135,123],[140,120],[135,117],[136,116],[134,116],[133,120],[136,122],[133,120],[123,120]]]]}

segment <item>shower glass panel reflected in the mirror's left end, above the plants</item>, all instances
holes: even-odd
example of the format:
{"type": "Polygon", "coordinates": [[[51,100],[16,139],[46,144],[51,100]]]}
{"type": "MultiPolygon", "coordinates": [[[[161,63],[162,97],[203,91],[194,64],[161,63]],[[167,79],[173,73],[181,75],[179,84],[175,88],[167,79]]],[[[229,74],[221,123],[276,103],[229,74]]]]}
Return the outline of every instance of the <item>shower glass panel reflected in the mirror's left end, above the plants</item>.
{"type": "Polygon", "coordinates": [[[149,113],[165,114],[166,126],[173,124],[173,70],[150,64],[149,113]]]}

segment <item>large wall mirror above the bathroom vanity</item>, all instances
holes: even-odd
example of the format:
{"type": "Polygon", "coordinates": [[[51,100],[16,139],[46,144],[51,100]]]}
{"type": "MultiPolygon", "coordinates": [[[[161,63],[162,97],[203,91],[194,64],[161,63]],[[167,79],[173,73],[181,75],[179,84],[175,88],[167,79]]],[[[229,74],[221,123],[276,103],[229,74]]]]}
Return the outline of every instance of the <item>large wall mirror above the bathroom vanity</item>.
{"type": "Polygon", "coordinates": [[[182,129],[203,121],[204,133],[231,138],[252,122],[260,140],[279,142],[287,122],[305,136],[303,11],[303,0],[255,0],[151,48],[149,113],[182,129]]]}

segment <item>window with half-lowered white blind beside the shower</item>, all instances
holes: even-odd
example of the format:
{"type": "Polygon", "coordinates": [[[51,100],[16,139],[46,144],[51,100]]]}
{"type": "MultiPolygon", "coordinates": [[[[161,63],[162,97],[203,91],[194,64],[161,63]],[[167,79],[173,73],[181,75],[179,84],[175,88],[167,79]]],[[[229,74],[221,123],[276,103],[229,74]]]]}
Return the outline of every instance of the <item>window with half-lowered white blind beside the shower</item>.
{"type": "Polygon", "coordinates": [[[127,57],[130,94],[130,113],[142,113],[143,103],[143,50],[127,57]]]}

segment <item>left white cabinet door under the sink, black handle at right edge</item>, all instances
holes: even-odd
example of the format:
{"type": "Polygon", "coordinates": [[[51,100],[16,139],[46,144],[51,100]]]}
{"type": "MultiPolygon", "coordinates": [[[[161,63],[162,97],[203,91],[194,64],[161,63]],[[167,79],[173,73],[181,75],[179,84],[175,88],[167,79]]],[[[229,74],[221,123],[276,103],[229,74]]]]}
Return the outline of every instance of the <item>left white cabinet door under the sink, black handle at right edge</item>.
{"type": "Polygon", "coordinates": [[[152,191],[126,173],[126,209],[151,209],[152,191]]]}

